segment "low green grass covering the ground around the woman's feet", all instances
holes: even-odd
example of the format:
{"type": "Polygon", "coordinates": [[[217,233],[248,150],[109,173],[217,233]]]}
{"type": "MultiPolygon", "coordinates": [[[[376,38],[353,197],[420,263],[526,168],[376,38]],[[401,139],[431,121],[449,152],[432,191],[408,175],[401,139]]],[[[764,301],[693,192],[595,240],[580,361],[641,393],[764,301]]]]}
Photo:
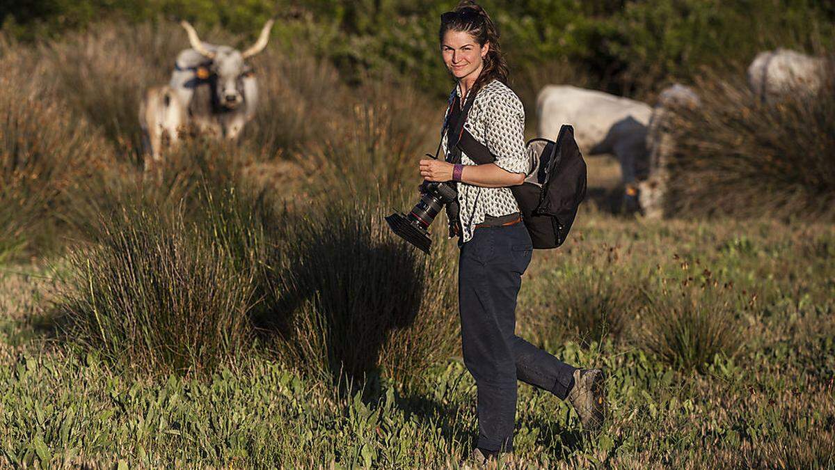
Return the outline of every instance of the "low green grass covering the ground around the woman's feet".
{"type": "MultiPolygon", "coordinates": [[[[613,414],[600,437],[584,437],[567,403],[520,386],[516,443],[524,466],[835,464],[832,227],[646,223],[593,211],[578,222],[566,249],[534,256],[519,333],[569,363],[604,366],[613,414]],[[658,264],[674,278],[682,259],[699,259],[749,297],[757,293],[753,307],[735,310],[736,355],[705,358],[701,373],[671,365],[627,333],[646,326],[640,316],[627,315],[624,332],[602,342],[541,328],[573,324],[558,311],[529,308],[542,286],[565,282],[560,266],[587,259],[602,243],[617,247],[620,265],[649,272],[658,264]]],[[[408,383],[383,368],[362,389],[335,388],[268,354],[221,365],[204,379],[125,375],[95,352],[78,355],[49,340],[38,326],[48,280],[35,284],[40,294],[24,297],[37,278],[3,278],[0,299],[12,314],[0,328],[0,448],[10,463],[454,467],[476,432],[473,381],[454,353],[408,383]]]]}

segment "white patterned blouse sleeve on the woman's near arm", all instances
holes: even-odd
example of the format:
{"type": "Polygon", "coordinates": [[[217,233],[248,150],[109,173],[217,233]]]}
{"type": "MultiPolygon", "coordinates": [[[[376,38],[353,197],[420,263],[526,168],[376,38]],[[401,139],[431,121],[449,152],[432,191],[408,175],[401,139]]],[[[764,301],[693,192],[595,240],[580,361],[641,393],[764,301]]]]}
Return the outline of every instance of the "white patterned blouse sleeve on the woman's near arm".
{"type": "Polygon", "coordinates": [[[513,93],[494,96],[484,104],[484,140],[499,168],[527,174],[529,161],[524,152],[524,107],[513,93]]]}

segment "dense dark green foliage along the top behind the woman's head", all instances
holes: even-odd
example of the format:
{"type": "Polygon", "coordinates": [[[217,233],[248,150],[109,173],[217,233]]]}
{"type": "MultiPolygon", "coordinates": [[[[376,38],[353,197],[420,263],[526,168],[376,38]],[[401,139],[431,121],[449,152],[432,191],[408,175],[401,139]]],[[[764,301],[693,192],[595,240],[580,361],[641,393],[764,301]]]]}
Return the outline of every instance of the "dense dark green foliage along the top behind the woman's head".
{"type": "MultiPolygon", "coordinates": [[[[277,15],[276,38],[287,45],[305,38],[355,82],[394,72],[443,95],[448,84],[437,66],[438,17],[454,3],[42,0],[0,7],[0,22],[28,39],[83,28],[104,15],[129,22],[189,18],[253,37],[266,18],[277,15]]],[[[703,66],[738,69],[762,49],[820,48],[835,31],[835,8],[813,0],[485,0],[483,5],[498,22],[522,88],[530,74],[559,78],[559,64],[569,59],[597,88],[641,95],[671,79],[691,79],[703,66]]]]}

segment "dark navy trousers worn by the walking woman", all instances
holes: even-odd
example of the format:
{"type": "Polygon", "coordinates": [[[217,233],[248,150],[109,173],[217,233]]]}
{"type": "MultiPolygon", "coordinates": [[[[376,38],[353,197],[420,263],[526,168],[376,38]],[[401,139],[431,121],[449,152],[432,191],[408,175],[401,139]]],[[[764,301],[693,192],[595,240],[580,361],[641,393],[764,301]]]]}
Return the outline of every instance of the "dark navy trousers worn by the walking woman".
{"type": "Polygon", "coordinates": [[[513,450],[517,380],[561,399],[574,382],[574,367],[515,335],[516,295],[532,252],[522,223],[478,227],[461,245],[461,346],[478,389],[476,446],[489,452],[513,450]]]}

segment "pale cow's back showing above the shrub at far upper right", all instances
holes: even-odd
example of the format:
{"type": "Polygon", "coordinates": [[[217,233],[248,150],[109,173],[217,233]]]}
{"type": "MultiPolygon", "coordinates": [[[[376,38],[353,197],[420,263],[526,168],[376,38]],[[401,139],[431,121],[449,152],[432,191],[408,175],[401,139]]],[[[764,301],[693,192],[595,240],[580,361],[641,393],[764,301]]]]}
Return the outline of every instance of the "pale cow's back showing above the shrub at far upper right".
{"type": "Polygon", "coordinates": [[[785,95],[811,95],[823,86],[826,69],[826,59],[790,49],[765,51],[748,66],[748,85],[763,101],[785,95]]]}

